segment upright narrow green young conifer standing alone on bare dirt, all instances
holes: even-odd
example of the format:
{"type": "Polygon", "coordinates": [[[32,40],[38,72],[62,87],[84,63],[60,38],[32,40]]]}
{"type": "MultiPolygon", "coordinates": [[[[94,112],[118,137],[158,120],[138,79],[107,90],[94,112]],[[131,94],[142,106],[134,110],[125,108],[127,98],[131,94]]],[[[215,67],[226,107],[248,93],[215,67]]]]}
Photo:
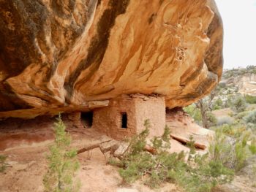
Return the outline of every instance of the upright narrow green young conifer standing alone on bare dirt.
{"type": "Polygon", "coordinates": [[[45,191],[50,192],[73,192],[79,190],[79,182],[73,183],[75,172],[79,168],[76,158],[76,150],[69,150],[71,137],[65,132],[65,125],[61,116],[54,123],[56,138],[53,145],[50,145],[48,155],[48,172],[43,178],[45,191]]]}

